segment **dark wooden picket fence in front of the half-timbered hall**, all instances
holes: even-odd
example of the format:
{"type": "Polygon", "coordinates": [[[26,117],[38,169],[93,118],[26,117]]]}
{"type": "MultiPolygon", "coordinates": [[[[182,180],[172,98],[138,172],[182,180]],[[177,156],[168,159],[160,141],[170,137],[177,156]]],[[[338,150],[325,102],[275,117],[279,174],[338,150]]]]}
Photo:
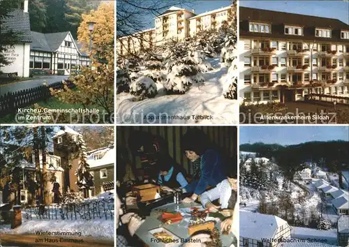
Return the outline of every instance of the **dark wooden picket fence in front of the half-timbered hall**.
{"type": "MultiPolygon", "coordinates": [[[[66,81],[68,88],[72,89],[75,84],[66,81]]],[[[15,92],[9,92],[0,96],[0,116],[5,117],[7,114],[17,112],[18,108],[27,107],[40,100],[51,98],[50,88],[63,89],[63,82],[54,82],[48,86],[41,85],[32,89],[24,89],[15,92]]]]}

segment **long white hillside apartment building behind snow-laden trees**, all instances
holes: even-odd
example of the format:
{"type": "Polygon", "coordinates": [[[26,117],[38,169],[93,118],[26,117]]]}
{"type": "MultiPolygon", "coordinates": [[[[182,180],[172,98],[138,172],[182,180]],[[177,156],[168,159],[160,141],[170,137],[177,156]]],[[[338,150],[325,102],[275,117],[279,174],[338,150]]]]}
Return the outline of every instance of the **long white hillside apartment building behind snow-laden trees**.
{"type": "Polygon", "coordinates": [[[161,45],[168,40],[184,40],[200,30],[218,29],[232,14],[232,6],[218,8],[200,15],[194,10],[171,7],[155,17],[155,28],[117,38],[117,54],[137,52],[141,48],[161,45]]]}

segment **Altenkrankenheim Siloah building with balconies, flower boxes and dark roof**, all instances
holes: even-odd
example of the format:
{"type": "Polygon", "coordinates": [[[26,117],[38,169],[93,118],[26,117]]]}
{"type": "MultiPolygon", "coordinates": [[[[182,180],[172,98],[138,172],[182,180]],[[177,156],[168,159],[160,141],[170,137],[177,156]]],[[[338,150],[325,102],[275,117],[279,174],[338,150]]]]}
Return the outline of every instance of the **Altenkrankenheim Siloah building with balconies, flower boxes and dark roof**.
{"type": "Polygon", "coordinates": [[[349,26],[339,20],[239,8],[239,90],[249,103],[348,96],[349,26]]]}

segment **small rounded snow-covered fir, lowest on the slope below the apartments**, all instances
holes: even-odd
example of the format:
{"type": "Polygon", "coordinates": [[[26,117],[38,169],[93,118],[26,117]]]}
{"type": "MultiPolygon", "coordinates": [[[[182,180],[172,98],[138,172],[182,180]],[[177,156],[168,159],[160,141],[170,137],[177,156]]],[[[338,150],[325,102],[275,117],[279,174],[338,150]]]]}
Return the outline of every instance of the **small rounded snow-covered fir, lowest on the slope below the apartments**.
{"type": "Polygon", "coordinates": [[[130,93],[137,100],[144,100],[144,98],[154,98],[158,90],[154,80],[147,76],[141,76],[131,83],[130,93]]]}

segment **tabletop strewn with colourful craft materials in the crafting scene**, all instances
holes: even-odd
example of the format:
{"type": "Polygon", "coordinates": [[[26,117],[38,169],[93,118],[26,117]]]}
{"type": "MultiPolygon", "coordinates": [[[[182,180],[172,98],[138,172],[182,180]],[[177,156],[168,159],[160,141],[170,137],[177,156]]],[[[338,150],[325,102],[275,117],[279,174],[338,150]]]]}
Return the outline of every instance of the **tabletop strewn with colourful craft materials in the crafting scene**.
{"type": "Polygon", "coordinates": [[[207,246],[236,245],[232,232],[221,232],[223,219],[219,213],[211,214],[196,202],[169,203],[153,209],[135,234],[147,246],[174,247],[185,244],[193,232],[210,229],[213,242],[207,246]]]}

